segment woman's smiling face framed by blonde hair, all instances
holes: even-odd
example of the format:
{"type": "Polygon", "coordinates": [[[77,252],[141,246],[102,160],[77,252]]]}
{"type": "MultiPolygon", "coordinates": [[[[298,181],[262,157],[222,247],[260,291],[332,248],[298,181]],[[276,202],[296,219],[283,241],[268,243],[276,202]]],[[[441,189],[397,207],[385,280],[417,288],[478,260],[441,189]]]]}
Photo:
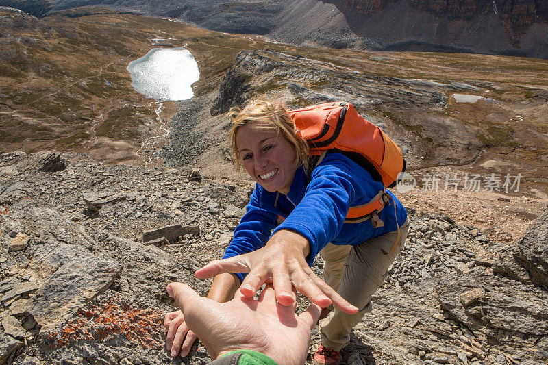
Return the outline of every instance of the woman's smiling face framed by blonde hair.
{"type": "Polygon", "coordinates": [[[288,194],[297,170],[296,153],[281,133],[252,123],[238,130],[236,145],[249,176],[269,192],[288,194]]]}

